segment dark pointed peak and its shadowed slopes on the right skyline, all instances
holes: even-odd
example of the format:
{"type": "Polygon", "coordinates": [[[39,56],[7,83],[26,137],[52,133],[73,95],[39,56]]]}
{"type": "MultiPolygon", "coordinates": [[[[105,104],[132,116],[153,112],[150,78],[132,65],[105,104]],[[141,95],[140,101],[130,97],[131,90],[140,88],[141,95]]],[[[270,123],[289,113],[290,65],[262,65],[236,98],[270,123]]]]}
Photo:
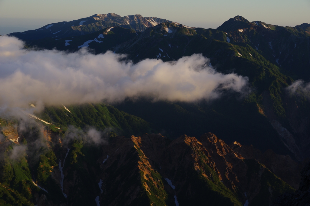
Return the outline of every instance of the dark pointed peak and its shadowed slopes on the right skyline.
{"type": "Polygon", "coordinates": [[[250,46],[294,78],[310,80],[310,24],[282,27],[261,21],[249,22],[236,16],[217,29],[242,46],[250,46]]]}

